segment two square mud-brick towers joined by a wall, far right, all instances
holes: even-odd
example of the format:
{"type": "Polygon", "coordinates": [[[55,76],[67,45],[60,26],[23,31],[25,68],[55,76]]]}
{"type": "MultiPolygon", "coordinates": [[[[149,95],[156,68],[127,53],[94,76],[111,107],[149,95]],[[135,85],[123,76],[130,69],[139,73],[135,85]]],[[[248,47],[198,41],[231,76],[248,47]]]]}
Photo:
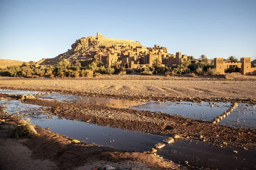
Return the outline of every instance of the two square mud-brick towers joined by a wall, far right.
{"type": "Polygon", "coordinates": [[[250,57],[241,58],[240,62],[224,62],[223,58],[214,59],[214,68],[220,74],[225,74],[225,69],[230,68],[231,65],[236,65],[240,69],[240,73],[243,75],[256,74],[256,68],[251,67],[250,57]]]}

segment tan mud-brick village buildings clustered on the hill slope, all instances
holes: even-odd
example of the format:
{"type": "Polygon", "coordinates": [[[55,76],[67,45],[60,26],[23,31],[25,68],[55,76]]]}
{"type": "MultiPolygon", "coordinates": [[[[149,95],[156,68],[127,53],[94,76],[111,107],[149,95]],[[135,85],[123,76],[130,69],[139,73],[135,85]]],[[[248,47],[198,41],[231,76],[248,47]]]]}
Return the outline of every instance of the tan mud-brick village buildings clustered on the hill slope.
{"type": "MultiPolygon", "coordinates": [[[[97,37],[102,37],[97,33],[97,37]]],[[[153,48],[132,45],[105,45],[96,51],[95,59],[111,66],[114,62],[120,62],[125,68],[137,68],[138,65],[152,65],[154,59],[162,61],[163,65],[180,65],[183,58],[187,55],[181,55],[180,52],[168,54],[166,47],[154,45],[153,48]]]]}

